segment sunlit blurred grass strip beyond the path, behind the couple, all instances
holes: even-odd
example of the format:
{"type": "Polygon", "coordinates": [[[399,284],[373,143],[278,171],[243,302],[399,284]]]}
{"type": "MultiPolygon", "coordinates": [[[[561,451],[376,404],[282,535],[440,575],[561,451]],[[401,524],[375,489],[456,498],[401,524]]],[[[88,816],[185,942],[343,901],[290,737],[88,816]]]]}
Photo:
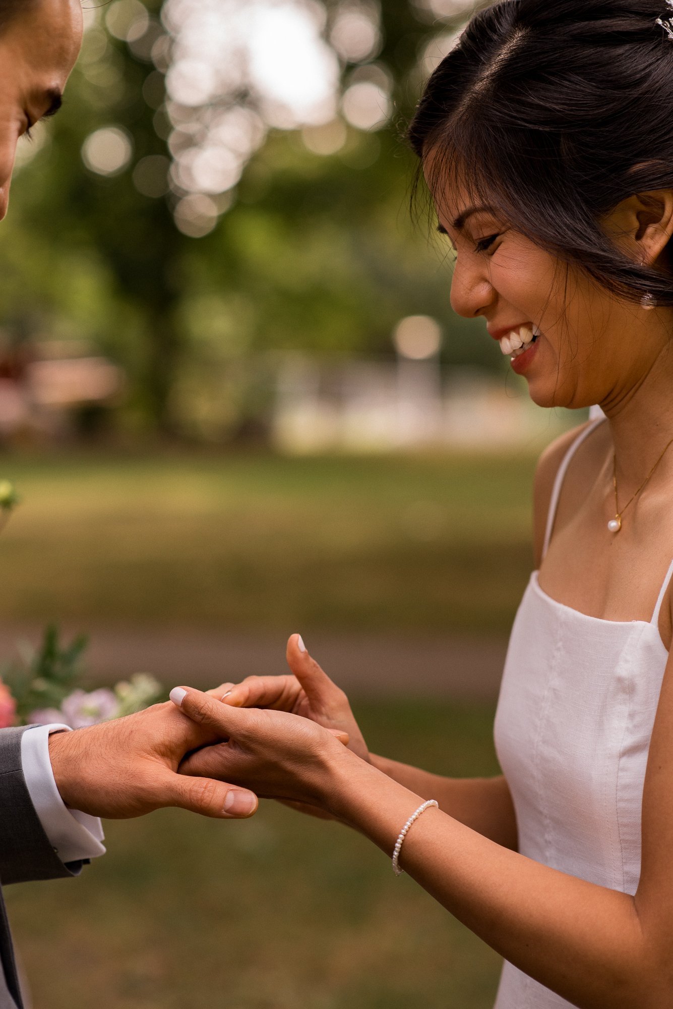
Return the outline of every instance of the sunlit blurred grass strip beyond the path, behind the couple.
{"type": "Polygon", "coordinates": [[[0,620],[507,631],[532,456],[6,457],[0,620]]]}

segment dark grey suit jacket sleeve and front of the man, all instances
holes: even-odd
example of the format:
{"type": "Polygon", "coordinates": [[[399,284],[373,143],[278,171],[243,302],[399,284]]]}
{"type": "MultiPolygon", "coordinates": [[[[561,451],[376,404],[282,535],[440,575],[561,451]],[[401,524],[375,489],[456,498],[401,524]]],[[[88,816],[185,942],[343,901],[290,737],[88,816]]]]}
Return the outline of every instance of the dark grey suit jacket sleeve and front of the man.
{"type": "MultiPolygon", "coordinates": [[[[24,883],[77,876],[83,862],[60,861],[30,801],[21,767],[25,728],[0,730],[0,882],[24,883]]],[[[0,891],[0,1009],[23,1009],[12,937],[0,891]]]]}

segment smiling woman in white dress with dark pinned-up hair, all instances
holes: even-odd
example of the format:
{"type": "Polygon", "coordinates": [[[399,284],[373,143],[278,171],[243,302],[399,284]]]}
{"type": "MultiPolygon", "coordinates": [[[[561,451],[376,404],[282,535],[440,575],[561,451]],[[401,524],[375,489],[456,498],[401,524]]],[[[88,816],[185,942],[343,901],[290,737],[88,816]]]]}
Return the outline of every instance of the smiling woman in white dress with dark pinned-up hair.
{"type": "Polygon", "coordinates": [[[538,466],[537,570],[496,719],[503,776],[450,780],[370,754],[297,636],[293,676],[173,691],[229,739],[183,771],[369,836],[504,956],[498,1009],[662,1009],[673,1005],[673,0],[482,11],[430,79],[410,139],[457,255],[453,308],[486,319],[536,404],[598,403],[605,415],[538,466]]]}

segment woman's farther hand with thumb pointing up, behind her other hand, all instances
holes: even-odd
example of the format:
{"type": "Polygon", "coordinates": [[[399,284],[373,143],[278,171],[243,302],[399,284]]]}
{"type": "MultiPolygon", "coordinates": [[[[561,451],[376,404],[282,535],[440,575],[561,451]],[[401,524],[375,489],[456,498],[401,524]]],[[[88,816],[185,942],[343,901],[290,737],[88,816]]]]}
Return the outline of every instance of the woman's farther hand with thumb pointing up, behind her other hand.
{"type": "Polygon", "coordinates": [[[346,732],[349,749],[369,762],[369,750],[349,698],[309,656],[299,635],[287,643],[287,664],[293,676],[249,676],[242,683],[223,683],[208,692],[232,707],[287,711],[325,728],[346,732]]]}

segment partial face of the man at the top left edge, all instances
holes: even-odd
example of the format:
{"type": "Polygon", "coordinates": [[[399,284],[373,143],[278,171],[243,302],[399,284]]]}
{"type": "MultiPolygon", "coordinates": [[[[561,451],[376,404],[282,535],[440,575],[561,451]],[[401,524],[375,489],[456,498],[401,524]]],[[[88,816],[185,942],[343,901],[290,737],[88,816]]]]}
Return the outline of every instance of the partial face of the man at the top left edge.
{"type": "Polygon", "coordinates": [[[82,30],[80,0],[39,0],[0,35],[0,220],[7,213],[16,144],[59,107],[82,30]]]}

